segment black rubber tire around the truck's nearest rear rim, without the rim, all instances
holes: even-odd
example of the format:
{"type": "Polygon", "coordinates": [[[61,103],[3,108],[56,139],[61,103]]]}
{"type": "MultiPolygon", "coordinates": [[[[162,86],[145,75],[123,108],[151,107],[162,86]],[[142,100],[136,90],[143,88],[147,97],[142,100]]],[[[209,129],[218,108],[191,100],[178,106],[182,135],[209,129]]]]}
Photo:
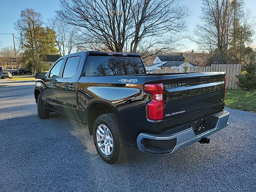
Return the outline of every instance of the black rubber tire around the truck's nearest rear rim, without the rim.
{"type": "Polygon", "coordinates": [[[103,114],[96,118],[93,126],[93,139],[99,156],[108,164],[121,162],[128,156],[129,146],[122,140],[118,120],[114,113],[103,114]],[[97,144],[96,131],[100,124],[107,126],[113,137],[113,152],[109,156],[103,154],[97,144]]]}

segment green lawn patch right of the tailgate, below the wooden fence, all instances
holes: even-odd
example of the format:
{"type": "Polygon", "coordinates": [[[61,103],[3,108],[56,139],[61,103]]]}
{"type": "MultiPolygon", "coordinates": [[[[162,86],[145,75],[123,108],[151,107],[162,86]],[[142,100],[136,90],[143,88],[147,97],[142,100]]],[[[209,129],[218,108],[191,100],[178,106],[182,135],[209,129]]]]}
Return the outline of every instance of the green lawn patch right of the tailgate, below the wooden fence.
{"type": "Polygon", "coordinates": [[[256,113],[256,90],[226,90],[225,104],[232,109],[256,113]]]}

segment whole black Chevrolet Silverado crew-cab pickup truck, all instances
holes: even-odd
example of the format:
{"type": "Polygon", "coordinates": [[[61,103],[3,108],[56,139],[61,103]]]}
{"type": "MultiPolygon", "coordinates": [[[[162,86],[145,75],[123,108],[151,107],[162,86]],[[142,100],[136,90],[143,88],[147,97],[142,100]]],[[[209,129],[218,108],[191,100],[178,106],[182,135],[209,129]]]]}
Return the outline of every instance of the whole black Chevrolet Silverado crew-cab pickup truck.
{"type": "Polygon", "coordinates": [[[90,51],[63,56],[36,78],[38,116],[58,112],[88,125],[109,164],[131,146],[168,154],[208,143],[228,125],[224,72],[146,74],[139,54],[90,51]]]}

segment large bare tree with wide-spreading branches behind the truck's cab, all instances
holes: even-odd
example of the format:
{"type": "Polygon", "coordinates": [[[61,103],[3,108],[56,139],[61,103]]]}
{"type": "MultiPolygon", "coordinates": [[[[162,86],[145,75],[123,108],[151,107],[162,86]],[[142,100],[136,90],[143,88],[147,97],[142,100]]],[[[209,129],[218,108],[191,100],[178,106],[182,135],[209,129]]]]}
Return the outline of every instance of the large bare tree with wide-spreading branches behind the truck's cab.
{"type": "Polygon", "coordinates": [[[189,11],[179,0],[60,0],[57,14],[82,28],[84,47],[138,52],[145,41],[148,51],[183,32],[189,11]]]}

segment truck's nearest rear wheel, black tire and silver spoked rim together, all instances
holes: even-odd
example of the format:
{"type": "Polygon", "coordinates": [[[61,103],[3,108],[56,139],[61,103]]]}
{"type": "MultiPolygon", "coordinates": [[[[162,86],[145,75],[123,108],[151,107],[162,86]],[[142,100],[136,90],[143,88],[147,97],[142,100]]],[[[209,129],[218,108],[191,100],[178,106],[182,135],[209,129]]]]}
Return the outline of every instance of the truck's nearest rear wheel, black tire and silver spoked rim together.
{"type": "Polygon", "coordinates": [[[96,118],[93,138],[98,154],[108,164],[121,162],[127,157],[129,147],[122,140],[115,114],[103,114],[96,118]]]}

